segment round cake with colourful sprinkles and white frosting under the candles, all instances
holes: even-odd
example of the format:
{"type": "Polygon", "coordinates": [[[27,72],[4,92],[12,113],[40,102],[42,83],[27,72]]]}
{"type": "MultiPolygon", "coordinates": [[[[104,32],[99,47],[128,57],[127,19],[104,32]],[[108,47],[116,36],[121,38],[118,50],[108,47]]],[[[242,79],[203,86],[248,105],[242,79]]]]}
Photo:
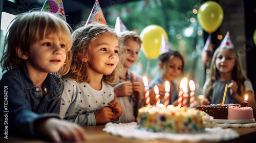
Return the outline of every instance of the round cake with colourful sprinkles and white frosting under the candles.
{"type": "MultiPolygon", "coordinates": [[[[139,129],[153,132],[197,133],[205,130],[202,116],[204,112],[162,104],[141,107],[138,111],[139,129]]],[[[210,121],[210,120],[208,120],[210,121]]]]}

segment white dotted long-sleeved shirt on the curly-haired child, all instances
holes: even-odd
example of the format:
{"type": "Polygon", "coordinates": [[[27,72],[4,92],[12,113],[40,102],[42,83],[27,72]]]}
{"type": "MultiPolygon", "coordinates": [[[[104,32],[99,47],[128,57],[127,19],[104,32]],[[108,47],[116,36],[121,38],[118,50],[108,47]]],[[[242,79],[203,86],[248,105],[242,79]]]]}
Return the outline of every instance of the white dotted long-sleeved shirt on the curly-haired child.
{"type": "Polygon", "coordinates": [[[86,82],[63,79],[60,117],[80,126],[96,126],[94,112],[108,106],[114,99],[113,87],[101,83],[101,90],[95,90],[86,82]]]}

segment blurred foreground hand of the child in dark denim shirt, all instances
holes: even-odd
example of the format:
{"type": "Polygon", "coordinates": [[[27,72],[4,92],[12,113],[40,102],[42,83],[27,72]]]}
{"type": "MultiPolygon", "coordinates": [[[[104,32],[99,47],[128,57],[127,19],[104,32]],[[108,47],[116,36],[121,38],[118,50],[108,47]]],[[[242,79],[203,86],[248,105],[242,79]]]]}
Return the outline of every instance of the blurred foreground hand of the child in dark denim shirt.
{"type": "Polygon", "coordinates": [[[36,123],[35,131],[54,142],[62,142],[63,136],[69,141],[86,141],[86,131],[79,125],[57,118],[47,118],[36,123]]]}

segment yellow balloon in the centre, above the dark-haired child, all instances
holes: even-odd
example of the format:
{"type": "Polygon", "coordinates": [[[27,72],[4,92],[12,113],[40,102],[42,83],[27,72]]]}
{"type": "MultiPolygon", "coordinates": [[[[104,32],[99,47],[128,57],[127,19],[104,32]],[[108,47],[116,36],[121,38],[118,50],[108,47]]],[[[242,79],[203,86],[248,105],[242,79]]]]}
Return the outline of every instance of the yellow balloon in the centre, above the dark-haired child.
{"type": "Polygon", "coordinates": [[[168,39],[165,30],[158,25],[147,26],[141,31],[142,51],[148,59],[151,60],[159,56],[162,34],[168,39]]]}

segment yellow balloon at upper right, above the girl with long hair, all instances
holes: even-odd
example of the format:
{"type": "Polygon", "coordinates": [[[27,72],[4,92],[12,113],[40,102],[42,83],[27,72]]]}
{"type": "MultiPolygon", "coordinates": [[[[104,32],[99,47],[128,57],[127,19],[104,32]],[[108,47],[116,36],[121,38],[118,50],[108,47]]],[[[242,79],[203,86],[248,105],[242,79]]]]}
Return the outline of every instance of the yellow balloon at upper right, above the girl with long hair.
{"type": "Polygon", "coordinates": [[[221,26],[223,17],[223,9],[215,1],[204,2],[197,14],[199,24],[208,33],[215,32],[221,26]]]}

